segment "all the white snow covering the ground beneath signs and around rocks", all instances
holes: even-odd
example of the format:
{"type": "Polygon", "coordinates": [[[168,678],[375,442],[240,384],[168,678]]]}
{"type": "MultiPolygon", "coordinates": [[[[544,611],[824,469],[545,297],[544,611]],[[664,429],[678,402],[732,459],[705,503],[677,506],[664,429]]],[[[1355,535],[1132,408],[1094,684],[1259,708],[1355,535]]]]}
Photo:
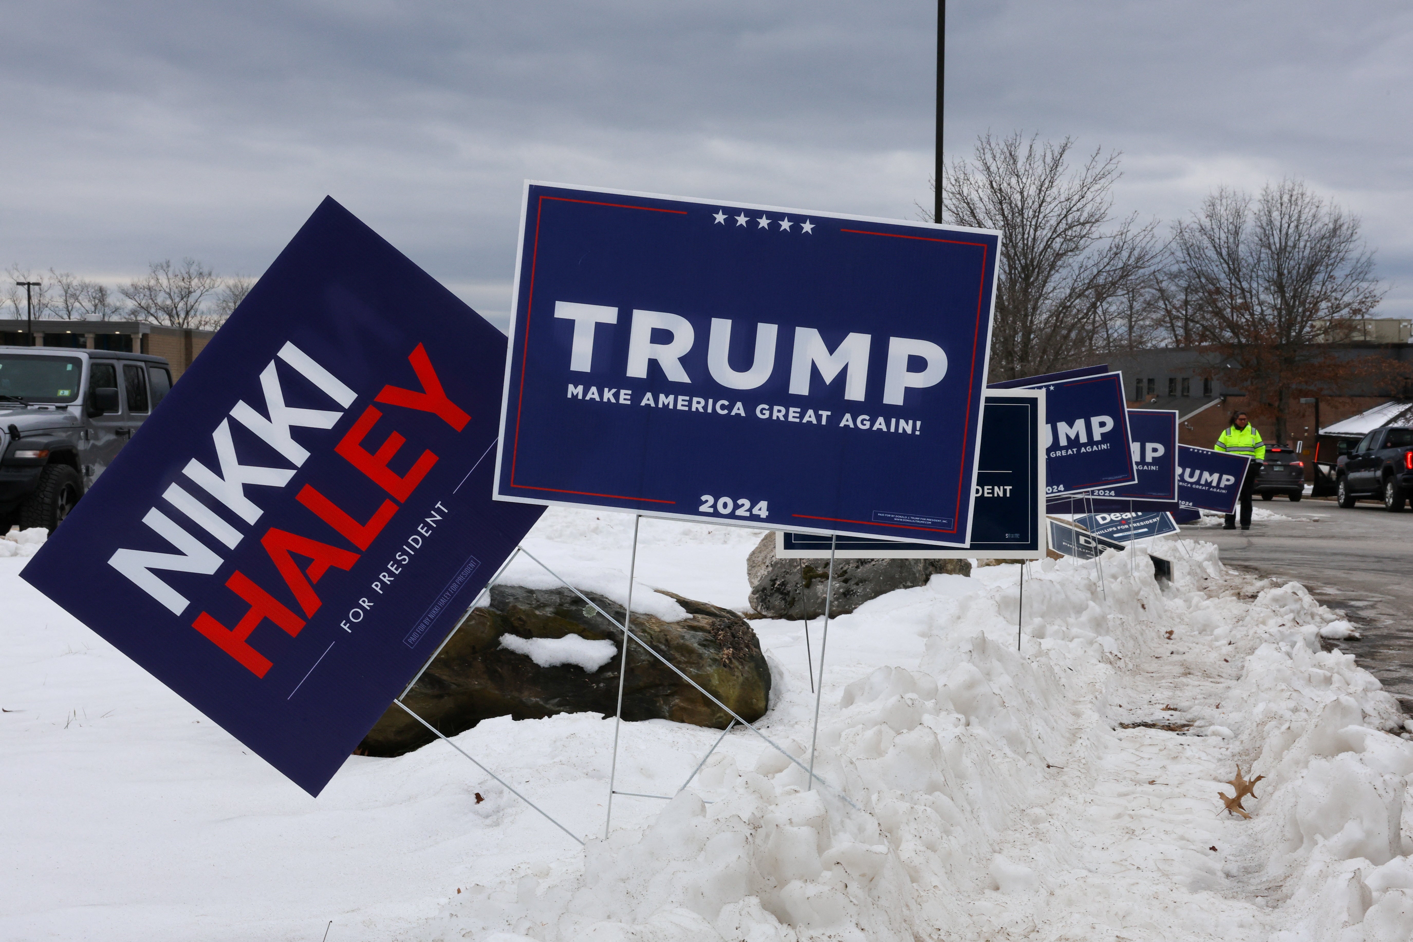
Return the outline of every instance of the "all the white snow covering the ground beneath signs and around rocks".
{"type": "MultiPolygon", "coordinates": [[[[632,527],[551,510],[526,547],[626,597],[632,527]]],[[[671,603],[649,588],[745,609],[759,535],[643,520],[634,609],[671,603]]],[[[582,849],[442,743],[350,757],[308,798],[24,562],[0,559],[0,939],[1413,936],[1413,723],[1321,650],[1334,613],[1207,542],[1030,564],[1023,610],[1009,564],[835,619],[812,791],[742,729],[678,791],[721,733],[626,723],[617,788],[675,798],[619,795],[605,839],[612,720],[455,739],[582,849]],[[1249,821],[1218,797],[1238,767],[1263,777],[1249,821]]],[[[774,675],[759,726],[808,764],[805,626],[752,624],[774,675]]],[[[810,641],[818,679],[820,621],[810,641]]]]}

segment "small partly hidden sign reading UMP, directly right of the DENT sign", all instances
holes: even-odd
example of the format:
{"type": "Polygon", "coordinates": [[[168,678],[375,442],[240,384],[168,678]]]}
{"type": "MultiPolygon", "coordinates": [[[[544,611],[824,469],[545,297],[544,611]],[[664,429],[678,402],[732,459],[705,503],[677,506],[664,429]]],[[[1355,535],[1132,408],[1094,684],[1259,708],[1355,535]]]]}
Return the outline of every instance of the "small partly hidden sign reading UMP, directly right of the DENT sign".
{"type": "Polygon", "coordinates": [[[1058,378],[1064,376],[1017,380],[1023,388],[1046,391],[1046,493],[1056,497],[1133,483],[1123,374],[1058,378]]]}

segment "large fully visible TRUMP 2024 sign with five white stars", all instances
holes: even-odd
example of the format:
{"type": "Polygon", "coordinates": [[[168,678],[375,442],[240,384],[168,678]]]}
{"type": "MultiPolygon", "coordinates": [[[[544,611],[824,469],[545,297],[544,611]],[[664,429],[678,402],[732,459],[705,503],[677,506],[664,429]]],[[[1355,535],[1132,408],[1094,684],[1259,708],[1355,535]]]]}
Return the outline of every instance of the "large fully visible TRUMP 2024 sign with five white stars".
{"type": "Polygon", "coordinates": [[[998,246],[528,184],[496,496],[962,545],[998,246]]]}

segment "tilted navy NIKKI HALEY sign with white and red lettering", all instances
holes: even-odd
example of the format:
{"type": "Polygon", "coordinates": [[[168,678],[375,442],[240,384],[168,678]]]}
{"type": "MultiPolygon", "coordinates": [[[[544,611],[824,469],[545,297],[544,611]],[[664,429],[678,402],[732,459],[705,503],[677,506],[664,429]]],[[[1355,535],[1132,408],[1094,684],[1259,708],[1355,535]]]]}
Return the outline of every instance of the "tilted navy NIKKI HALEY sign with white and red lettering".
{"type": "Polygon", "coordinates": [[[504,356],[325,199],[23,575],[317,795],[541,514],[504,356]]]}

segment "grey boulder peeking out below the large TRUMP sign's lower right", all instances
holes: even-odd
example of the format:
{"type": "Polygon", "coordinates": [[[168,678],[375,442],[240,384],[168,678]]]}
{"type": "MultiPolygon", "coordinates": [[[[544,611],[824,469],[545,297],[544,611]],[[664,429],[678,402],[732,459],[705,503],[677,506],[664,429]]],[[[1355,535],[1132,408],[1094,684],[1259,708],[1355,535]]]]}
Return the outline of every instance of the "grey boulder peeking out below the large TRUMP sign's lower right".
{"type": "MultiPolygon", "coordinates": [[[[937,573],[971,575],[965,559],[835,559],[829,614],[848,614],[893,589],[924,586],[937,573]]],[[[750,607],[769,619],[818,619],[829,582],[829,558],[779,559],[767,532],[746,558],[750,607]]]]}

